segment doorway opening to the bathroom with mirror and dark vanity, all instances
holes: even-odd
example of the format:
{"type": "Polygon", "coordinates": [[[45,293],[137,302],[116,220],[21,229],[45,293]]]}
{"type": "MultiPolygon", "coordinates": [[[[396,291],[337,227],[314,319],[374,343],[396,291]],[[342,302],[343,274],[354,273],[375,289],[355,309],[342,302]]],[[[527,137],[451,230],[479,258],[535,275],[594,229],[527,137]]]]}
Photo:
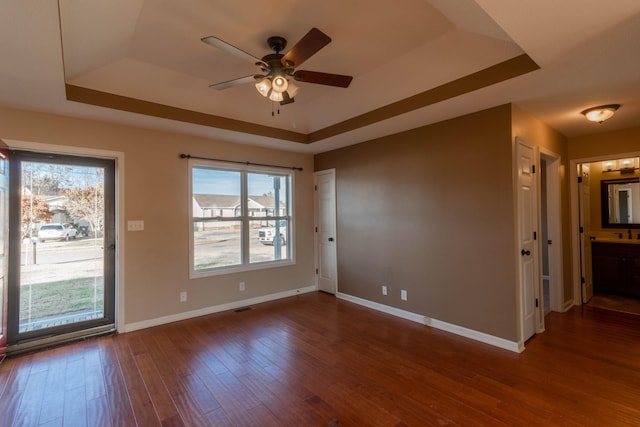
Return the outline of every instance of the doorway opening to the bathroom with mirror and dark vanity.
{"type": "Polygon", "coordinates": [[[574,238],[579,242],[578,253],[574,252],[574,259],[579,260],[574,262],[577,272],[575,304],[640,314],[640,297],[624,288],[629,279],[623,272],[632,269],[635,261],[631,261],[632,257],[620,257],[603,250],[613,248],[615,251],[621,247],[617,243],[638,240],[635,237],[640,221],[632,215],[634,199],[632,194],[627,194],[626,182],[634,177],[637,180],[640,171],[637,167],[625,169],[616,165],[627,159],[637,164],[639,155],[626,153],[617,157],[580,159],[572,165],[572,173],[578,178],[572,184],[573,215],[579,221],[579,228],[574,230],[574,238]],[[607,194],[606,184],[616,181],[623,184],[609,185],[607,194]],[[607,245],[607,242],[612,244],[607,245]]]}

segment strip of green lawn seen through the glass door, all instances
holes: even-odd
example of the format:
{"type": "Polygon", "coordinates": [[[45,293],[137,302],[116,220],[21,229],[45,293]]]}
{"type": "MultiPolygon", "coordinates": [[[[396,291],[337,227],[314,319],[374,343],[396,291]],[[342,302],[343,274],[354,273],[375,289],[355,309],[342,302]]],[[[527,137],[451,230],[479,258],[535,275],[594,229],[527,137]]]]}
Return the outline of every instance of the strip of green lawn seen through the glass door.
{"type": "Polygon", "coordinates": [[[94,308],[104,309],[102,277],[36,283],[20,288],[20,320],[35,320],[94,308]]]}

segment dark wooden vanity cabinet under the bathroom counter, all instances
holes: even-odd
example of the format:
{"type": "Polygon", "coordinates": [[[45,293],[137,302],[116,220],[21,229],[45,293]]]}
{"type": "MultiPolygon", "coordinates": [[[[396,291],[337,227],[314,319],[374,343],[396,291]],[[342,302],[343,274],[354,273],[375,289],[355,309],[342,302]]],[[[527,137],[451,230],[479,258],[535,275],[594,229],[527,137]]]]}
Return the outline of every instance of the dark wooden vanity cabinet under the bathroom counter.
{"type": "Polygon", "coordinates": [[[593,290],[640,296],[640,244],[593,242],[593,290]]]}

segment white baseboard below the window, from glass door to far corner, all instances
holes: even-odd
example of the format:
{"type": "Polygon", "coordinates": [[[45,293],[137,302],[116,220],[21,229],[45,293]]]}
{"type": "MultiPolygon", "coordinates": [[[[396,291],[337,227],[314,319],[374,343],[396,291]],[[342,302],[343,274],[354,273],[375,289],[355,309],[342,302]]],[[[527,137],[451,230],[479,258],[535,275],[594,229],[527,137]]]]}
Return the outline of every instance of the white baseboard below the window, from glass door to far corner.
{"type": "Polygon", "coordinates": [[[301,295],[308,292],[315,292],[318,290],[316,286],[307,286],[304,288],[292,289],[290,291],[277,292],[275,294],[263,295],[260,297],[244,299],[240,301],[233,301],[227,304],[214,305],[211,307],[205,307],[198,310],[185,311],[183,313],[172,314],[170,316],[158,317],[155,319],[143,320],[142,322],[128,323],[124,326],[124,330],[119,332],[133,332],[139,329],[151,328],[153,326],[164,325],[167,323],[178,322],[180,320],[187,320],[194,317],[206,316],[207,314],[219,313],[221,311],[235,310],[236,308],[246,307],[252,304],[260,304],[263,302],[274,301],[281,298],[292,297],[294,295],[301,295]]]}

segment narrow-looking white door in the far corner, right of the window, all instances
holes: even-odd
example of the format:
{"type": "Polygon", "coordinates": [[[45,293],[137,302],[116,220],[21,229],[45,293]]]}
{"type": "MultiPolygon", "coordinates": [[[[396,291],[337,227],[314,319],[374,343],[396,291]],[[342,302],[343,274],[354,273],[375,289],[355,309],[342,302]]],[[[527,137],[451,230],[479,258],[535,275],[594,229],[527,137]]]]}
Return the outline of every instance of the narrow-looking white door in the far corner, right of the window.
{"type": "Polygon", "coordinates": [[[335,170],[316,172],[314,181],[316,285],[318,290],[335,294],[338,287],[335,170]]]}

